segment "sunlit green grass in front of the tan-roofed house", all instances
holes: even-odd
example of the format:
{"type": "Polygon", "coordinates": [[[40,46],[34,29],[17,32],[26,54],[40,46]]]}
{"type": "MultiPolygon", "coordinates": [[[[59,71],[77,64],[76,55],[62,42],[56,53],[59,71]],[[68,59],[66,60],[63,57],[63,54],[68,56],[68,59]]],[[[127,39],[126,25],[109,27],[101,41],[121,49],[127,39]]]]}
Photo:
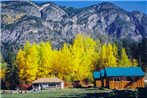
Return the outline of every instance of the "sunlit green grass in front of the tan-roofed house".
{"type": "Polygon", "coordinates": [[[87,97],[87,94],[105,93],[109,90],[98,90],[96,88],[85,89],[52,89],[38,92],[28,92],[23,94],[2,94],[2,98],[75,98],[75,97],[87,97]]]}

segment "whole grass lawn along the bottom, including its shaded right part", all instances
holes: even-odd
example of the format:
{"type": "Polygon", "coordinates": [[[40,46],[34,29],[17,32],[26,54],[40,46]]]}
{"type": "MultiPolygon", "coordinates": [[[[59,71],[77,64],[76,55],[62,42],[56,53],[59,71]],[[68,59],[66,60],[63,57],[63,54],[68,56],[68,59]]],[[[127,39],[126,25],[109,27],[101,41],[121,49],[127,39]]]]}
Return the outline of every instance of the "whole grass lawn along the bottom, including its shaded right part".
{"type": "MultiPolygon", "coordinates": [[[[128,96],[124,94],[125,96],[128,96]]],[[[71,88],[71,89],[51,89],[38,92],[28,92],[23,94],[1,94],[1,98],[96,98],[115,97],[112,90],[96,88],[71,88]]]]}

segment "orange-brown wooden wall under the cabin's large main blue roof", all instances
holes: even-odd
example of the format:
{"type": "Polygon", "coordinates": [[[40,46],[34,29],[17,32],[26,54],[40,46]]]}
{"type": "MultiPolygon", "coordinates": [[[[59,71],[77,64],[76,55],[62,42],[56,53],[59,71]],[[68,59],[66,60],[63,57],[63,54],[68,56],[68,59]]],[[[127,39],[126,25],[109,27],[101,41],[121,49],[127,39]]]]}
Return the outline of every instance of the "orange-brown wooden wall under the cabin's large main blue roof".
{"type": "Polygon", "coordinates": [[[137,81],[114,81],[113,79],[109,79],[109,88],[110,89],[136,89],[137,87],[144,87],[144,77],[139,78],[137,81]]]}

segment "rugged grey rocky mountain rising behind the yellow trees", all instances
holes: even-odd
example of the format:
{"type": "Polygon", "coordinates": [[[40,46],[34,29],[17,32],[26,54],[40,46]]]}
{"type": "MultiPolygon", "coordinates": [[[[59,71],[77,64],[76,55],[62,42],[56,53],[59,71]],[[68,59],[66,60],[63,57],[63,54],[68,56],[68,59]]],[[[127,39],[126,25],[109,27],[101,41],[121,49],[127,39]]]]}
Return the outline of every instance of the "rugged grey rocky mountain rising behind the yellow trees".
{"type": "Polygon", "coordinates": [[[72,43],[77,33],[104,41],[147,38],[146,14],[127,12],[109,2],[78,9],[52,2],[7,1],[1,3],[1,20],[2,52],[9,45],[18,50],[26,40],[50,41],[58,49],[64,42],[72,43]]]}

